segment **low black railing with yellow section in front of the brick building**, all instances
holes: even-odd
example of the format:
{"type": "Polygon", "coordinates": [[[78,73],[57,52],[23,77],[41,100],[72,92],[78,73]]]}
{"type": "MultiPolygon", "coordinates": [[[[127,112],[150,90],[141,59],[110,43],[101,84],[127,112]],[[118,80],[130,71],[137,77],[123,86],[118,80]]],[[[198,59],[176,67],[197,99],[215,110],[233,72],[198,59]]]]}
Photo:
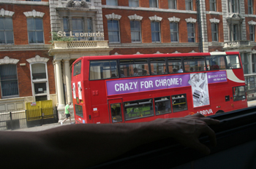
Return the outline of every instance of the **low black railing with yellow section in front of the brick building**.
{"type": "Polygon", "coordinates": [[[0,111],[0,130],[16,130],[59,121],[56,106],[32,110],[0,111]]]}

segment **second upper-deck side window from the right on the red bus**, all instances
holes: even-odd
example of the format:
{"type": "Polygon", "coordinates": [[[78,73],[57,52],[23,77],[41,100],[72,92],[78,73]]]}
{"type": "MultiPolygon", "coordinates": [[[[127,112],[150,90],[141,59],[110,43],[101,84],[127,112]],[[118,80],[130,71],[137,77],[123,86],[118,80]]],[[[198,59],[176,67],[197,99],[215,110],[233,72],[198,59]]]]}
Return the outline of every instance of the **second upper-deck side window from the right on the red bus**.
{"type": "Polygon", "coordinates": [[[222,55],[206,57],[208,71],[225,69],[225,57],[222,55]]]}

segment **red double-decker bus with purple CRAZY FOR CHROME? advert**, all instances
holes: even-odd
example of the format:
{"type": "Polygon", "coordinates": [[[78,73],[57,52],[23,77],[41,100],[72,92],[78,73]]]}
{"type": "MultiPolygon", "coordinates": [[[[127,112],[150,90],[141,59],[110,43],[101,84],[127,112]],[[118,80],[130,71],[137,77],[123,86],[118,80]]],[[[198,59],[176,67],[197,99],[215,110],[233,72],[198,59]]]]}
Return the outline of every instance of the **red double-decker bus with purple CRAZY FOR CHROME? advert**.
{"type": "Polygon", "coordinates": [[[239,52],[85,56],[72,66],[76,123],[147,122],[247,107],[239,52]]]}

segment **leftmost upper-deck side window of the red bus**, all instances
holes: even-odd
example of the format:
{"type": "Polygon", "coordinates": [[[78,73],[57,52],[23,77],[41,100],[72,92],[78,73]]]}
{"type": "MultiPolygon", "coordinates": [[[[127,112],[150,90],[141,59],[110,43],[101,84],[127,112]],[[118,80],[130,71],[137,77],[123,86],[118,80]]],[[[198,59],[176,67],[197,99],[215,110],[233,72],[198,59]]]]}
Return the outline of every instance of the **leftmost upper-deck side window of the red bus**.
{"type": "Polygon", "coordinates": [[[91,61],[90,80],[118,77],[116,60],[91,61]]]}

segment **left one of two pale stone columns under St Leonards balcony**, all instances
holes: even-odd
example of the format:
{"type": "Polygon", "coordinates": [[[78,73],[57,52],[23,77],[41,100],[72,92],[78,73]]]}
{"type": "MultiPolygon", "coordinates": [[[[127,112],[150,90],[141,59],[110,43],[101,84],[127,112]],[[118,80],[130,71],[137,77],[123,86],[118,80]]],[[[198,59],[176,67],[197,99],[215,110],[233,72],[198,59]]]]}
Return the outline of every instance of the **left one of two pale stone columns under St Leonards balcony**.
{"type": "Polygon", "coordinates": [[[57,83],[57,90],[58,90],[57,91],[58,103],[59,103],[59,106],[65,106],[62,73],[61,73],[61,59],[55,60],[55,62],[56,62],[56,83],[57,83]]]}

